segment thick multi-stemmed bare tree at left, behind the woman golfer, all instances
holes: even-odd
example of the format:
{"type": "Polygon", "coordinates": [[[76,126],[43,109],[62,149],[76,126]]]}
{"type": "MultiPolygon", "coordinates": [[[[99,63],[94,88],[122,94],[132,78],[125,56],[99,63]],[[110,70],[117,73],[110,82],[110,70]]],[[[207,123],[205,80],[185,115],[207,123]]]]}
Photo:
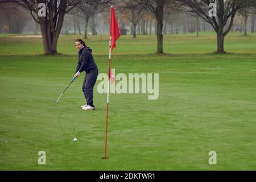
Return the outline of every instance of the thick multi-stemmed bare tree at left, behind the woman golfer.
{"type": "Polygon", "coordinates": [[[79,5],[82,0],[10,0],[9,2],[17,3],[30,11],[35,22],[40,24],[44,53],[54,55],[57,53],[57,40],[65,14],[79,5]],[[46,5],[46,16],[38,15],[38,11],[41,9],[41,7],[38,7],[39,3],[46,5]]]}

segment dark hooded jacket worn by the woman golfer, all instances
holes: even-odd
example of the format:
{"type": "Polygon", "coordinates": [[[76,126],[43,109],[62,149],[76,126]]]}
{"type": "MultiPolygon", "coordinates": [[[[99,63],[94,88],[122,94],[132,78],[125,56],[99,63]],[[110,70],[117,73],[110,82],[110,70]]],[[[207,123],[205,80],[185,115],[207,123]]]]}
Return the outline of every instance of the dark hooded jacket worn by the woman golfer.
{"type": "Polygon", "coordinates": [[[83,47],[79,51],[79,60],[77,63],[76,72],[89,72],[91,69],[97,69],[97,65],[92,56],[92,49],[89,47],[83,47]]]}

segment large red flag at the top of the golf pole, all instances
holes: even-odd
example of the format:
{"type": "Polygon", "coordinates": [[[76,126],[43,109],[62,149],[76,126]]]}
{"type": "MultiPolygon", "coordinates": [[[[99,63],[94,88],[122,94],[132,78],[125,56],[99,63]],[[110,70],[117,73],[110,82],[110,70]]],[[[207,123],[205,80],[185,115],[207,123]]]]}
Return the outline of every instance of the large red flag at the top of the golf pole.
{"type": "Polygon", "coordinates": [[[111,36],[111,51],[115,48],[115,41],[120,36],[120,30],[117,23],[117,18],[115,17],[114,7],[111,7],[111,18],[110,18],[110,36],[111,36]]]}

